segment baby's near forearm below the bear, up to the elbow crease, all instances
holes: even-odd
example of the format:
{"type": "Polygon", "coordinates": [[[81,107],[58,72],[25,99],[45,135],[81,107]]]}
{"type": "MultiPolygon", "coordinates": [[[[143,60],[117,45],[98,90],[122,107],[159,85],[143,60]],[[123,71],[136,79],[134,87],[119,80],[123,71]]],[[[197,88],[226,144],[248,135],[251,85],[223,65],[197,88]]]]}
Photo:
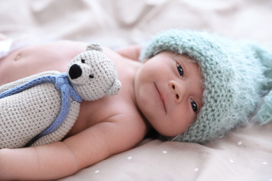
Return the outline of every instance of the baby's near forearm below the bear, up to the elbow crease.
{"type": "Polygon", "coordinates": [[[0,150],[0,180],[49,180],[75,172],[73,152],[63,142],[0,150]]]}

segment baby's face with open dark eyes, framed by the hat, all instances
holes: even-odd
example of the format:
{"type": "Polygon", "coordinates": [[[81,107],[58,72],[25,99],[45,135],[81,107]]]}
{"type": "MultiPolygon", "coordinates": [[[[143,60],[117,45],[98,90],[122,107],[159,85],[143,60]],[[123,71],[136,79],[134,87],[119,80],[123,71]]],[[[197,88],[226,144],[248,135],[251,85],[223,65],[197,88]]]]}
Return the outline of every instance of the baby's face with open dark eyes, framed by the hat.
{"type": "Polygon", "coordinates": [[[161,52],[146,61],[135,76],[139,109],[164,136],[182,134],[202,107],[202,74],[190,57],[161,52]]]}

